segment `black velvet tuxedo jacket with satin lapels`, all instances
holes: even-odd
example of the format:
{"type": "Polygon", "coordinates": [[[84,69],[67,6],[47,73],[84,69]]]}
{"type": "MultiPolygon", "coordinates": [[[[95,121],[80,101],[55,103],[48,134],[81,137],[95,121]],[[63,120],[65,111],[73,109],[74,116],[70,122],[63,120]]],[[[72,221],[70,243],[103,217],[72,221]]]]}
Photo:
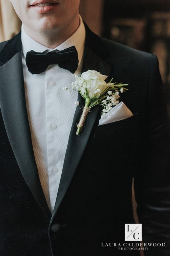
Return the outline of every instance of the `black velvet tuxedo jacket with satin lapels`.
{"type": "Polygon", "coordinates": [[[82,72],[128,83],[120,100],[133,116],[98,126],[97,105],[76,136],[84,104],[79,95],[51,215],[33,153],[21,52],[20,33],[0,44],[0,255],[138,255],[101,246],[123,243],[124,224],[134,223],[133,177],[144,242],[166,243],[145,255],[169,255],[170,137],[155,55],[99,38],[86,27],[82,72]]]}

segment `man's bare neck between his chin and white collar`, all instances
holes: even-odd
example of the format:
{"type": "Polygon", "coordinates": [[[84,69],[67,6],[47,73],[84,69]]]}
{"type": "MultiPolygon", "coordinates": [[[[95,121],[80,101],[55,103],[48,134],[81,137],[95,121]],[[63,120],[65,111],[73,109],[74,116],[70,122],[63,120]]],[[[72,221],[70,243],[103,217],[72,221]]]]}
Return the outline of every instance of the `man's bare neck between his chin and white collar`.
{"type": "Polygon", "coordinates": [[[47,48],[54,49],[58,45],[66,41],[79,27],[80,19],[77,17],[75,22],[72,22],[70,26],[66,28],[58,28],[55,31],[35,31],[30,27],[24,25],[25,32],[32,37],[39,44],[46,46],[47,48]]]}

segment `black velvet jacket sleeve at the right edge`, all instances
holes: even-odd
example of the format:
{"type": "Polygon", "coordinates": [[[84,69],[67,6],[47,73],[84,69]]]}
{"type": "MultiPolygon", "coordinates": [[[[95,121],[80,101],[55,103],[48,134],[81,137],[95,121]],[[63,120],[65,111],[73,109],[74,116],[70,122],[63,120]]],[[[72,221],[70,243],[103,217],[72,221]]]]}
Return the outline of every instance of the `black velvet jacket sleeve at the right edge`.
{"type": "Polygon", "coordinates": [[[143,242],[165,243],[144,251],[145,256],[170,255],[170,125],[162,93],[157,57],[152,55],[146,106],[134,170],[137,213],[143,242]]]}

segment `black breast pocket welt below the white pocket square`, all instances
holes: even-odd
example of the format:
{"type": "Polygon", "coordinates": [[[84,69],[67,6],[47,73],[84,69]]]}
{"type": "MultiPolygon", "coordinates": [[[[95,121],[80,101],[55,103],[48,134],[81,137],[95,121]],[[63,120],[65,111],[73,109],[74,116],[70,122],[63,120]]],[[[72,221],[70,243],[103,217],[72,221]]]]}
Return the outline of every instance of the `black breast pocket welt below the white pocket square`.
{"type": "Polygon", "coordinates": [[[127,133],[129,130],[135,131],[135,128],[140,124],[140,113],[133,114],[133,116],[126,119],[99,125],[94,129],[94,138],[99,138],[108,135],[115,135],[119,133],[127,133]]]}

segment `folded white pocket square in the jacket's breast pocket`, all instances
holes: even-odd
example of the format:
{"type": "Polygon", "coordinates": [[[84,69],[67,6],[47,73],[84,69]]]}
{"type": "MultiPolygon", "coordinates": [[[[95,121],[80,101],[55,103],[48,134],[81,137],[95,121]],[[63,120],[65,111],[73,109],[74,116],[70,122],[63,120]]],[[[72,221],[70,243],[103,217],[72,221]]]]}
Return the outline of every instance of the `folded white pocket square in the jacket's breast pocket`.
{"type": "Polygon", "coordinates": [[[99,125],[105,125],[107,123],[120,121],[131,116],[133,116],[132,112],[126,107],[123,102],[120,102],[108,113],[106,113],[104,118],[100,118],[99,125]]]}

